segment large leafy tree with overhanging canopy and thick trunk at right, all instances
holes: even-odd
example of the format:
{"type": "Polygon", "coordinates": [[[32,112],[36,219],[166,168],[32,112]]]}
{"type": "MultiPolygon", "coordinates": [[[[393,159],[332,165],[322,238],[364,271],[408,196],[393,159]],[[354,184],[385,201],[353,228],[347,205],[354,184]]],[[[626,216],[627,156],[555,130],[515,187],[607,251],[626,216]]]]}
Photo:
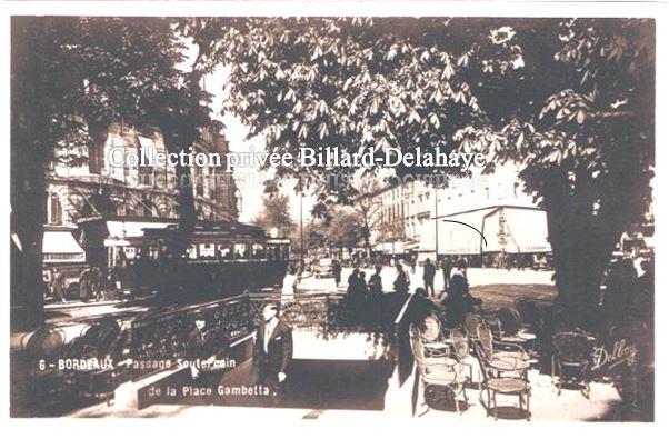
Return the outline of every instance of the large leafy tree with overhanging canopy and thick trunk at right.
{"type": "MultiPolygon", "coordinates": [[[[231,20],[223,38],[228,108],[272,151],[421,146],[518,163],[548,213],[560,295],[575,303],[595,296],[620,233],[647,210],[652,20],[277,18],[231,20]]],[[[276,176],[346,199],[348,180],[332,188],[322,176],[350,172],[276,176]]]]}

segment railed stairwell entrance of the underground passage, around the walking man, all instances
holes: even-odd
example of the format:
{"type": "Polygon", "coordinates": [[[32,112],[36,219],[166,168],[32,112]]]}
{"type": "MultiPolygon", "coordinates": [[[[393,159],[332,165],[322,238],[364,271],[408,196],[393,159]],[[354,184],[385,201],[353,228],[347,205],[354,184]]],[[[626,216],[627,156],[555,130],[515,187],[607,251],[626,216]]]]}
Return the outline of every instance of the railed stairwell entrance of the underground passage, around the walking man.
{"type": "MultiPolygon", "coordinates": [[[[322,295],[282,303],[281,319],[291,327],[293,349],[286,381],[277,388],[259,382],[253,369],[254,332],[247,331],[222,352],[233,359],[233,367],[206,373],[183,368],[140,390],[139,406],[383,410],[398,365],[395,320],[406,299],[387,295],[351,307],[341,296],[322,295]]],[[[256,319],[271,300],[251,297],[246,311],[256,319]]],[[[249,327],[258,325],[253,321],[249,327]]]]}

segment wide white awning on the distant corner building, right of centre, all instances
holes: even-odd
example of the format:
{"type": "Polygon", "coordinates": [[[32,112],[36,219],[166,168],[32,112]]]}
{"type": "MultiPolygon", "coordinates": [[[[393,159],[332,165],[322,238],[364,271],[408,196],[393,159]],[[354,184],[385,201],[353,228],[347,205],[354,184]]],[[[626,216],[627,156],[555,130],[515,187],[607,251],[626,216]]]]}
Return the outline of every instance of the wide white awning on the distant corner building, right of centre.
{"type": "MultiPolygon", "coordinates": [[[[421,252],[435,251],[435,227],[433,219],[423,223],[421,252]]],[[[508,253],[551,251],[546,212],[539,209],[490,207],[440,218],[437,227],[439,255],[480,255],[502,249],[508,253]],[[475,229],[486,237],[485,241],[475,229]]]]}

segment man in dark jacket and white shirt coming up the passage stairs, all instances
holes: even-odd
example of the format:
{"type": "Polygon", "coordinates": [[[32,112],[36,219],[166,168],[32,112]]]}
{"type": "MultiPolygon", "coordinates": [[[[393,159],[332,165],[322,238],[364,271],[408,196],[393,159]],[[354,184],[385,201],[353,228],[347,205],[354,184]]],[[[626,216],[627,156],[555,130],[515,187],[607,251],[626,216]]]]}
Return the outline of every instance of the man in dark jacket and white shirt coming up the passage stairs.
{"type": "Polygon", "coordinates": [[[292,359],[292,328],[279,319],[277,303],[266,305],[262,318],[253,346],[253,373],[256,383],[269,387],[277,396],[288,377],[292,359]]]}

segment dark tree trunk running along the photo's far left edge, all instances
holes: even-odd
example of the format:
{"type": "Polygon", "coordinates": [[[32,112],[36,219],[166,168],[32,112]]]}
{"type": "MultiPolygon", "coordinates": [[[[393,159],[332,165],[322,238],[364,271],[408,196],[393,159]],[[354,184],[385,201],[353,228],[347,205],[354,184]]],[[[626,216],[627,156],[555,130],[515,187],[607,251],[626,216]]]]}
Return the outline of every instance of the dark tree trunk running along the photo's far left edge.
{"type": "Polygon", "coordinates": [[[52,78],[48,77],[39,56],[56,50],[54,42],[48,38],[51,20],[34,28],[32,24],[12,26],[12,33],[19,38],[14,38],[11,53],[10,221],[16,240],[11,243],[10,323],[12,330],[26,331],[44,323],[46,170],[53,153],[51,119],[43,101],[52,78]],[[21,36],[21,31],[28,36],[21,36]]]}

